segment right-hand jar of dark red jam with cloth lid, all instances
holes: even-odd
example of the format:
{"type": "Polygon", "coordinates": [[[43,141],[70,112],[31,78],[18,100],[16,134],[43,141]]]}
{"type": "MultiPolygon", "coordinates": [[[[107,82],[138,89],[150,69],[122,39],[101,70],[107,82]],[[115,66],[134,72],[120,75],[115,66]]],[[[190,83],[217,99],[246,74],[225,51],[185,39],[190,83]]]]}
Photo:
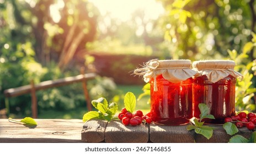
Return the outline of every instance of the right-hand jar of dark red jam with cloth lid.
{"type": "Polygon", "coordinates": [[[226,117],[235,115],[236,78],[242,74],[234,71],[234,61],[195,61],[193,69],[198,71],[193,79],[194,117],[199,118],[199,103],[210,108],[215,119],[206,123],[223,124],[226,117]]]}

